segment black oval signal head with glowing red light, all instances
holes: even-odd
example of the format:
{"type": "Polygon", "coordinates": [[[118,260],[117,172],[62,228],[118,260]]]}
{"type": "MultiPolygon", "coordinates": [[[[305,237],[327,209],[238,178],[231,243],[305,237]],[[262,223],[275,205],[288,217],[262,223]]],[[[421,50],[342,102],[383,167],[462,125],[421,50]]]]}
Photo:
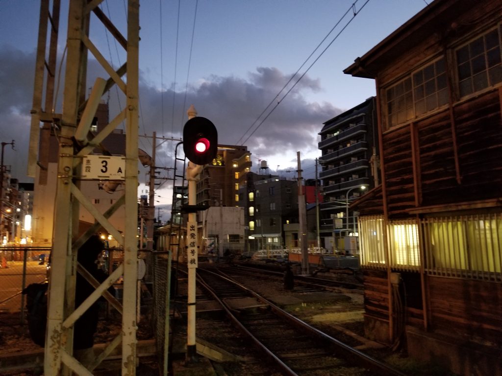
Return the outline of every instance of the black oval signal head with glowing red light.
{"type": "Polygon", "coordinates": [[[205,117],[196,116],[183,127],[183,151],[195,164],[210,163],[218,151],[218,131],[205,117]]]}

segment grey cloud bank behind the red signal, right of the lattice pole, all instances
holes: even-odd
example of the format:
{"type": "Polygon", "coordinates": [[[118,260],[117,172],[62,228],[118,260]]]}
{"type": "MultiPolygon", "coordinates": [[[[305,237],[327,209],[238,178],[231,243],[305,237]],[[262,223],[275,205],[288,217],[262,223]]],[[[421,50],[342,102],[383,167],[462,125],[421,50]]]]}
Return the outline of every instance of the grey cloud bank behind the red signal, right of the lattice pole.
{"type": "Polygon", "coordinates": [[[180,137],[187,120],[186,109],[194,104],[199,116],[207,117],[216,125],[219,143],[244,144],[261,159],[280,155],[296,161],[297,151],[307,154],[318,150],[317,133],[322,123],[341,110],[329,103],[309,102],[308,93],[317,92],[321,87],[319,80],[306,75],[269,115],[283,98],[285,92],[279,96],[278,93],[290,77],[276,68],[264,67],[249,73],[247,80],[210,76],[190,85],[186,93],[174,93],[174,100],[172,89],[161,94],[151,86],[142,85],[143,119],[140,122],[152,127],[150,132],[155,129],[158,134],[170,136],[172,129],[173,137],[180,137]],[[161,97],[164,106],[161,106],[161,97]],[[271,107],[260,117],[271,101],[271,107]]]}

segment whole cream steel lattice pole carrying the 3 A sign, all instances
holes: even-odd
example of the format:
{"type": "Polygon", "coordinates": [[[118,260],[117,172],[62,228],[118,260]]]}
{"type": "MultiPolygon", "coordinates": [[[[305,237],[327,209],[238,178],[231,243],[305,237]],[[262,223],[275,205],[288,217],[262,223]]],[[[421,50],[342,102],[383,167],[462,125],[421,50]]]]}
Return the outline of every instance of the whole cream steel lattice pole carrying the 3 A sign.
{"type": "MultiPolygon", "coordinates": [[[[99,2],[70,0],[68,16],[67,61],[63,113],[58,132],[59,161],[54,206],[54,236],[52,251],[52,273],[49,290],[49,310],[44,354],[44,374],[46,376],[91,375],[97,366],[120,342],[122,343],[122,375],[136,373],[136,308],[138,276],[138,63],[139,63],[139,0],[128,1],[128,39],[123,38],[97,7],[99,2]],[[88,38],[90,12],[94,12],[107,29],[127,49],[127,63],[114,71],[88,38]],[[105,81],[96,79],[89,99],[85,101],[85,78],[87,53],[110,74],[105,81]],[[121,76],[127,72],[127,82],[121,76]],[[116,84],[127,96],[127,107],[106,125],[94,138],[87,139],[91,120],[99,99],[104,92],[116,84]],[[126,168],[124,196],[104,214],[99,213],[90,200],[80,191],[80,169],[82,160],[122,121],[126,119],[126,168]],[[125,206],[126,218],[123,237],[109,222],[108,218],[125,206]],[[95,219],[84,234],[78,233],[78,212],[84,207],[95,219]],[[124,262],[101,285],[92,282],[76,261],[76,250],[100,227],[107,230],[124,249],[124,262]],[[80,237],[77,239],[77,236],[80,237]],[[90,281],[95,291],[79,306],[75,307],[76,271],[90,281]],[[120,275],[123,275],[123,307],[116,302],[106,289],[120,275]],[[89,369],[72,356],[73,325],[98,298],[104,295],[113,307],[122,313],[121,333],[108,343],[89,369]]],[[[43,7],[46,8],[46,7],[43,7]]],[[[50,88],[49,88],[50,89],[50,88]]],[[[36,93],[34,103],[40,104],[40,93],[36,93]]],[[[37,108],[38,111],[38,108],[37,108]]],[[[57,114],[53,114],[55,118],[57,114]]],[[[40,116],[34,114],[32,126],[38,125],[40,116]]],[[[32,133],[35,134],[36,132],[32,133]]],[[[30,143],[32,144],[32,143],[30,143]]],[[[33,152],[33,149],[30,150],[33,152]]]]}

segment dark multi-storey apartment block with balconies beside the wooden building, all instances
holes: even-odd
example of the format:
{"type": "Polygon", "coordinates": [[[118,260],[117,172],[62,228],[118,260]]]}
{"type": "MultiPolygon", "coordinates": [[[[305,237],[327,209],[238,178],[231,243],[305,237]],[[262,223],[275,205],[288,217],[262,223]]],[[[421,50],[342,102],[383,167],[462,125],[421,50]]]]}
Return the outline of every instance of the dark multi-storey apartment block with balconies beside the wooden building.
{"type": "Polygon", "coordinates": [[[319,132],[324,195],[319,206],[320,233],[327,249],[334,244],[344,250],[345,237],[358,233],[357,213],[349,209],[347,216],[347,206],[379,183],[376,127],[375,98],[371,97],[326,121],[319,132]]]}

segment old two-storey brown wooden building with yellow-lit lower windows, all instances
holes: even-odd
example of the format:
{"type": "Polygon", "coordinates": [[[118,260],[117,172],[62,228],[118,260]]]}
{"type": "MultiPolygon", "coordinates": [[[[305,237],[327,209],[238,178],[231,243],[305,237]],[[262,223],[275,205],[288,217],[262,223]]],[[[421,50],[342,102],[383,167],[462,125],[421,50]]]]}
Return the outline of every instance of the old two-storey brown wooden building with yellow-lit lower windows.
{"type": "Polygon", "coordinates": [[[366,333],[465,375],[502,374],[501,22],[500,0],[435,0],[344,71],[376,84],[366,333]]]}

